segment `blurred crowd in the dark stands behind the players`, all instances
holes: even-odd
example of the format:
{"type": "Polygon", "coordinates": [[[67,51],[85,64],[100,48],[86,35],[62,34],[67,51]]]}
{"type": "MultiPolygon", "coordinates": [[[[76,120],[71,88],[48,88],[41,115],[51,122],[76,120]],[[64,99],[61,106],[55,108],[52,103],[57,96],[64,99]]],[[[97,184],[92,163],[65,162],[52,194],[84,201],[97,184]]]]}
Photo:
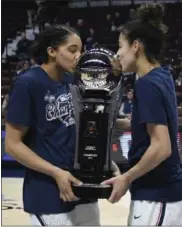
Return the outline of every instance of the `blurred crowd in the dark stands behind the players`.
{"type": "MultiPolygon", "coordinates": [[[[18,58],[18,62],[16,65],[15,72],[12,75],[12,82],[16,80],[18,76],[20,76],[23,72],[28,70],[30,67],[38,66],[37,60],[30,58],[29,48],[33,40],[37,37],[38,33],[43,31],[45,28],[56,24],[65,24],[67,26],[72,26],[76,28],[77,31],[80,33],[82,42],[84,44],[83,51],[89,50],[92,47],[102,46],[102,45],[112,49],[113,51],[116,51],[118,47],[117,40],[118,40],[118,36],[122,28],[122,25],[126,21],[135,19],[137,17],[136,9],[133,7],[130,7],[129,14],[127,14],[127,16],[124,15],[123,11],[122,13],[120,13],[119,10],[112,11],[112,13],[108,13],[108,11],[106,11],[105,13],[102,13],[102,15],[100,15],[100,21],[95,20],[95,23],[88,21],[84,16],[77,17],[77,20],[73,20],[70,15],[68,15],[67,17],[65,16],[65,19],[60,19],[60,11],[56,9],[56,5],[50,8],[42,1],[37,1],[36,4],[37,4],[36,10],[33,10],[33,9],[27,10],[27,16],[28,16],[27,26],[29,28],[29,32],[27,32],[26,30],[22,31],[21,39],[18,41],[16,45],[15,55],[18,58]],[[53,9],[51,14],[50,14],[50,11],[51,11],[50,9],[53,9]]],[[[63,10],[64,8],[62,9],[62,13],[64,14],[63,10]]],[[[92,17],[94,17],[94,14],[92,14],[92,17]]],[[[94,18],[92,19],[94,20],[94,18]]],[[[169,48],[169,53],[168,53],[169,57],[165,58],[164,64],[167,65],[167,67],[173,73],[174,81],[176,85],[177,101],[178,101],[178,105],[180,106],[182,105],[181,49],[180,50],[178,49],[176,56],[175,56],[176,52],[173,53],[175,51],[174,47],[176,46],[177,48],[178,45],[180,45],[179,37],[181,36],[179,35],[182,35],[182,31],[181,33],[180,32],[178,33],[179,34],[176,35],[174,31],[176,40],[173,44],[173,49],[169,48]],[[173,55],[170,56],[170,54],[173,54],[173,55]]],[[[170,36],[172,36],[172,34],[169,34],[169,37],[170,36]]],[[[119,111],[119,117],[130,118],[131,110],[132,110],[132,98],[133,98],[132,89],[133,89],[133,84],[137,79],[137,75],[135,75],[134,73],[127,73],[127,74],[121,74],[121,76],[123,77],[123,81],[125,82],[125,85],[126,85],[126,94],[125,94],[124,102],[119,111]]],[[[3,97],[2,115],[5,114],[7,100],[8,100],[8,95],[5,94],[3,97]]]]}

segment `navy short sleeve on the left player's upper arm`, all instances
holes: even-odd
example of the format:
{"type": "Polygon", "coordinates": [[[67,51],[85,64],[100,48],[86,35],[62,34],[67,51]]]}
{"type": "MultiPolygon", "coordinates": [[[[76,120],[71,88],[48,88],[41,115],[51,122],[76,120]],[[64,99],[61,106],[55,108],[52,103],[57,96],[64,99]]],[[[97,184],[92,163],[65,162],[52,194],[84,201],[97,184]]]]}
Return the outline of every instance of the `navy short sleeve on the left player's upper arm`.
{"type": "Polygon", "coordinates": [[[6,121],[24,127],[30,127],[33,121],[32,97],[28,84],[18,80],[10,93],[6,121]]]}

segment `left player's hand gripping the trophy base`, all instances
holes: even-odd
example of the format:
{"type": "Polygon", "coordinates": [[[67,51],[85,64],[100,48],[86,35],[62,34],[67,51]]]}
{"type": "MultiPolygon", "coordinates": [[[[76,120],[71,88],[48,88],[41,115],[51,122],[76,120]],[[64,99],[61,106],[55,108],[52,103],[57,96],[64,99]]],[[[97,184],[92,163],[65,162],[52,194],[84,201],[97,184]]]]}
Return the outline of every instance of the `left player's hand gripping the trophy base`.
{"type": "Polygon", "coordinates": [[[76,179],[70,172],[59,169],[54,174],[54,179],[60,191],[60,197],[65,202],[76,201],[78,198],[72,191],[72,184],[81,185],[82,182],[76,179]]]}

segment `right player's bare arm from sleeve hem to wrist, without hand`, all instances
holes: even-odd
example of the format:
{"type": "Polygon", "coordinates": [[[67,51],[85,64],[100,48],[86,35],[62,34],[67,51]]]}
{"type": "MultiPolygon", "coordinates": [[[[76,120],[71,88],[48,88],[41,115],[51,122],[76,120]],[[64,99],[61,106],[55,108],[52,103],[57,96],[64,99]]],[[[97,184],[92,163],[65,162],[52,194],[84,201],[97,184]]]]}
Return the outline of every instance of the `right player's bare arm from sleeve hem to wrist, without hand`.
{"type": "Polygon", "coordinates": [[[171,155],[171,142],[167,126],[147,124],[150,146],[141,160],[124,175],[129,183],[156,168],[171,155]]]}

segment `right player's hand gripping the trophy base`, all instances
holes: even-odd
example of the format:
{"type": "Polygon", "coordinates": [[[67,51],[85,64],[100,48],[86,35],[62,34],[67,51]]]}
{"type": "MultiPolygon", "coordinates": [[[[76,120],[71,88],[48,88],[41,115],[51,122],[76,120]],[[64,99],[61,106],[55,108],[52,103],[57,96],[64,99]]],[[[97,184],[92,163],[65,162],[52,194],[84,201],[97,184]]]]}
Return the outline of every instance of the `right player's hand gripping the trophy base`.
{"type": "Polygon", "coordinates": [[[130,186],[129,181],[124,174],[106,180],[102,182],[102,184],[110,184],[113,186],[111,196],[108,199],[110,203],[118,202],[121,197],[126,194],[130,186]]]}

